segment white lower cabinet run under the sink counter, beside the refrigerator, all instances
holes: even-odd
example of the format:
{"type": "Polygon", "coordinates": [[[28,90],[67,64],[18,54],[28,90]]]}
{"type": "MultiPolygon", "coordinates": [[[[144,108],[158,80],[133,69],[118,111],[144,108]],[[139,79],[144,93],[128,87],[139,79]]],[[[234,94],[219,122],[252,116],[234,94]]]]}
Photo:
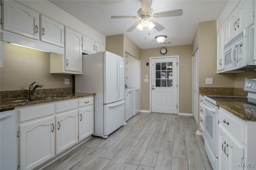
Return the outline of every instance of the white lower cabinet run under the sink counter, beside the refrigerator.
{"type": "Polygon", "coordinates": [[[15,108],[20,170],[38,168],[94,133],[94,97],[15,108]]]}

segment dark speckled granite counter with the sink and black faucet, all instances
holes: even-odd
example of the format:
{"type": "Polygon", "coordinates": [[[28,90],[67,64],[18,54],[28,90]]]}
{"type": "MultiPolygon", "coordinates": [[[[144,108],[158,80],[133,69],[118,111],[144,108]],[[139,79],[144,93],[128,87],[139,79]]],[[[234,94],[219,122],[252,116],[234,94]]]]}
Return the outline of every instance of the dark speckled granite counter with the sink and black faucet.
{"type": "Polygon", "coordinates": [[[86,97],[96,95],[95,93],[72,93],[72,88],[57,89],[38,89],[31,101],[14,102],[15,100],[30,99],[27,96],[28,90],[24,91],[1,91],[0,110],[10,110],[15,107],[34,105],[38,103],[46,103],[52,101],[60,101],[65,99],[74,99],[78,97],[86,97]],[[52,99],[40,99],[45,97],[56,97],[52,99]],[[39,100],[40,99],[40,100],[39,100]]]}

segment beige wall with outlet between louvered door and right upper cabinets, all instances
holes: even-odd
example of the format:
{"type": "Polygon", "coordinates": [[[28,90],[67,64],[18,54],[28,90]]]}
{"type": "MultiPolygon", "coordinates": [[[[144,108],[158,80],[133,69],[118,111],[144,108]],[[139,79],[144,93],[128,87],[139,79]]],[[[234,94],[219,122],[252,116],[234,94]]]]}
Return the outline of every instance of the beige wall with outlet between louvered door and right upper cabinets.
{"type": "Polygon", "coordinates": [[[217,74],[216,20],[200,22],[193,41],[193,52],[198,44],[199,87],[234,87],[235,74],[217,74]],[[213,84],[206,84],[206,78],[213,78],[213,84]]]}

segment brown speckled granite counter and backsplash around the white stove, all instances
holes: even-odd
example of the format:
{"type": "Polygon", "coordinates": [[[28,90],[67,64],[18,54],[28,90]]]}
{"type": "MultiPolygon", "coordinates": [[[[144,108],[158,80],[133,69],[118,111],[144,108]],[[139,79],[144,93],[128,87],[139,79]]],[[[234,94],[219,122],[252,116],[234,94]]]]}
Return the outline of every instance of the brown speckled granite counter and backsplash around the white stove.
{"type": "MultiPolygon", "coordinates": [[[[200,87],[200,95],[207,96],[239,96],[246,97],[247,91],[242,88],[223,88],[223,87],[200,87]]],[[[247,103],[247,98],[241,101],[222,102],[216,101],[219,107],[222,107],[226,111],[232,113],[236,117],[244,121],[256,121],[256,105],[247,103]]]]}

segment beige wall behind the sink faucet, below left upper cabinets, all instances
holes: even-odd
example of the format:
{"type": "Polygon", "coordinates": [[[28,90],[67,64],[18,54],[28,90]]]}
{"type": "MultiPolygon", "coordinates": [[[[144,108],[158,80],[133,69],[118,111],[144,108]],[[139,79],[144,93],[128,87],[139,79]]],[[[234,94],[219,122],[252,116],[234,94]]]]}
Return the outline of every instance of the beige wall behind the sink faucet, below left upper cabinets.
{"type": "Polygon", "coordinates": [[[3,64],[0,91],[28,90],[34,81],[43,89],[72,87],[72,75],[50,74],[50,53],[3,42],[3,64]]]}

